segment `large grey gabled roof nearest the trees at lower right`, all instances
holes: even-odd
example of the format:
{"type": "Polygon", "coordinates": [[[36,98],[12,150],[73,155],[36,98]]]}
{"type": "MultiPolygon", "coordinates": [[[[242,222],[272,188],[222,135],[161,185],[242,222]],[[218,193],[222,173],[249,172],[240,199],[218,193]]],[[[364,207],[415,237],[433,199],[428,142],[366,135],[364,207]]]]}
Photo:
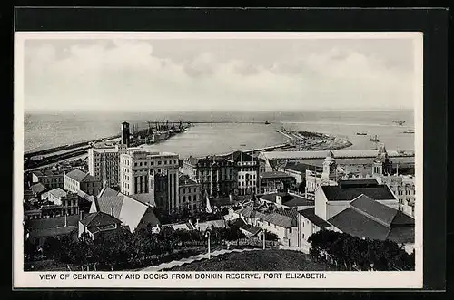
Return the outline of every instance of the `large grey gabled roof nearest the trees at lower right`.
{"type": "Polygon", "coordinates": [[[398,244],[414,243],[413,218],[363,194],[328,222],[355,237],[391,240],[398,244]]]}

